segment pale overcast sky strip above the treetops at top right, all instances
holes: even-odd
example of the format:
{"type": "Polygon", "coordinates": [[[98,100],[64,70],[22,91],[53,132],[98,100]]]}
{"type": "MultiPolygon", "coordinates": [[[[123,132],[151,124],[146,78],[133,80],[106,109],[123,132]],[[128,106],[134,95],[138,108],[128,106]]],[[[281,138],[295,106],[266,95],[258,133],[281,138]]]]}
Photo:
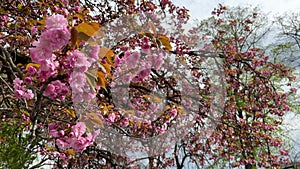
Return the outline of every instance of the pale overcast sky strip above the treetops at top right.
{"type": "Polygon", "coordinates": [[[189,9],[193,19],[209,17],[219,3],[225,6],[260,6],[263,12],[270,12],[271,15],[300,12],[300,0],[173,0],[172,2],[189,9]]]}

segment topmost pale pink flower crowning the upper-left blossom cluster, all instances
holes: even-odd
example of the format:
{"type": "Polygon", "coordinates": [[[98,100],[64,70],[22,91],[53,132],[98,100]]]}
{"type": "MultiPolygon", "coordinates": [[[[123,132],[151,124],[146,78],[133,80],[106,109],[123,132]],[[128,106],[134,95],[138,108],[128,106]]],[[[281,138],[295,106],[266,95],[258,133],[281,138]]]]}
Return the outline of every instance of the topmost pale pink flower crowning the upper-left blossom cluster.
{"type": "Polygon", "coordinates": [[[60,14],[57,15],[52,15],[47,18],[46,20],[46,28],[62,28],[62,27],[67,27],[68,26],[68,21],[67,19],[60,14]]]}

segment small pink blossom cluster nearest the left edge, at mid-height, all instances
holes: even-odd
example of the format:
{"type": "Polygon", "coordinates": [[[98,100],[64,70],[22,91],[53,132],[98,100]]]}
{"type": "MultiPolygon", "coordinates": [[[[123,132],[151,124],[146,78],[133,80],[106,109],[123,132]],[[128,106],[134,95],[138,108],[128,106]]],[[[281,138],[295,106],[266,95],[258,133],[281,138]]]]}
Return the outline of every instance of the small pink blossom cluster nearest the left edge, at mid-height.
{"type": "Polygon", "coordinates": [[[14,79],[14,93],[16,97],[20,99],[32,99],[34,97],[34,94],[32,93],[32,90],[26,89],[22,86],[23,80],[20,80],[19,78],[14,79]]]}

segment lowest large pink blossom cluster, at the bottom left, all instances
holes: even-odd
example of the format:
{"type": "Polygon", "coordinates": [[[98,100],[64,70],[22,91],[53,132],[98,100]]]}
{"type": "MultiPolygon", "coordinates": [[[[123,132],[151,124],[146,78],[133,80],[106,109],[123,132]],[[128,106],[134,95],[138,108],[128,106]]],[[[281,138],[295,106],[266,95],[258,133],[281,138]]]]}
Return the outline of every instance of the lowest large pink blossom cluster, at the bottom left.
{"type": "Polygon", "coordinates": [[[72,126],[71,132],[68,135],[65,134],[64,130],[58,130],[59,124],[50,123],[48,128],[49,133],[53,137],[57,137],[56,145],[59,148],[72,148],[74,152],[82,152],[88,146],[91,146],[100,132],[97,130],[86,134],[86,126],[83,122],[78,122],[75,126],[72,126]]]}

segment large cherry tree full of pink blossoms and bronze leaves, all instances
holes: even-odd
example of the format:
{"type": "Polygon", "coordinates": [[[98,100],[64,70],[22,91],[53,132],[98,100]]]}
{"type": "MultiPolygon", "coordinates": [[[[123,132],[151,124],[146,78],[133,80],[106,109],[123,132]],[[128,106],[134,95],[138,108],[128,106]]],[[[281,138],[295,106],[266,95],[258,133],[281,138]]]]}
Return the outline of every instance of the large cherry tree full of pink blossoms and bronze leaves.
{"type": "Polygon", "coordinates": [[[257,47],[260,13],[219,5],[186,29],[188,10],[169,0],[9,2],[0,7],[6,168],[289,162],[278,135],[295,89],[275,82],[295,77],[257,47]]]}

